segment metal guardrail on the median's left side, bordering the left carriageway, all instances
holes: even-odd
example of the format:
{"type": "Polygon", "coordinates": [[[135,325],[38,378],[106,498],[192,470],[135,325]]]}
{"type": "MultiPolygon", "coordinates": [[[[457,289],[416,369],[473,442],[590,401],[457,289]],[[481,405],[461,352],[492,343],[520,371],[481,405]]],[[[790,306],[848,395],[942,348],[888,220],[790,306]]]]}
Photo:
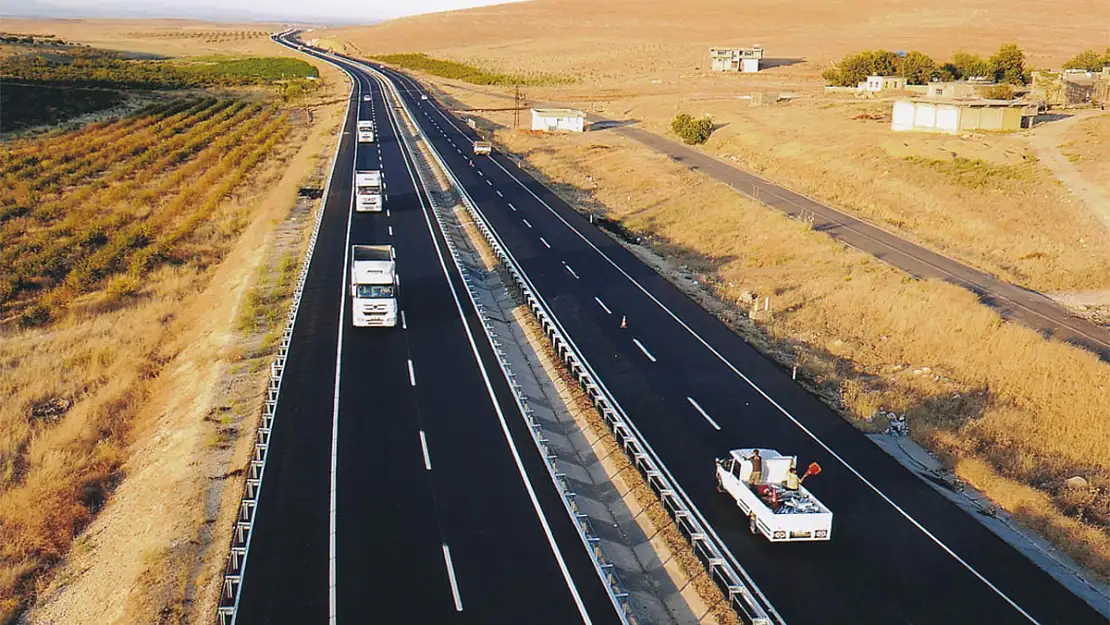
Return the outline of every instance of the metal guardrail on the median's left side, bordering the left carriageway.
{"type": "MultiPolygon", "coordinates": [[[[391,89],[393,89],[394,99],[398,103],[397,108],[404,111],[404,113],[408,117],[412,127],[416,129],[416,132],[421,135],[421,138],[424,140],[424,143],[427,145],[428,152],[432,153],[433,157],[435,157],[436,160],[438,161],[440,168],[443,169],[445,172],[450,171],[446,169],[443,161],[438,159],[438,154],[435,153],[435,149],[432,147],[431,142],[427,141],[427,137],[424,135],[423,130],[421,130],[420,124],[416,123],[415,118],[413,118],[412,112],[408,110],[408,107],[404,103],[404,100],[401,99],[398,93],[396,93],[395,87],[393,87],[392,81],[390,81],[385,77],[382,77],[382,80],[385,81],[387,84],[390,84],[391,89]]],[[[636,619],[635,615],[633,614],[632,604],[629,602],[629,595],[624,589],[624,585],[622,584],[620,578],[617,576],[614,569],[614,565],[607,561],[605,554],[602,552],[599,545],[601,537],[594,530],[593,524],[589,521],[589,516],[578,507],[576,501],[577,496],[574,490],[571,487],[571,483],[567,476],[564,473],[559,472],[558,468],[555,466],[555,460],[557,458],[557,455],[548,445],[547,438],[544,437],[543,425],[536,420],[535,413],[528,405],[528,399],[524,394],[524,389],[523,386],[521,386],[519,382],[516,381],[516,374],[513,373],[512,371],[508,356],[505,354],[504,350],[502,350],[502,344],[497,340],[497,333],[494,331],[488,313],[486,312],[485,306],[481,302],[481,295],[478,295],[477,292],[475,278],[472,276],[471,271],[466,269],[466,264],[460,256],[458,248],[455,245],[454,241],[451,238],[451,234],[447,231],[447,225],[443,218],[443,211],[451,210],[452,206],[441,205],[441,203],[437,202],[435,199],[435,193],[433,193],[433,191],[428,188],[425,174],[434,175],[432,173],[432,163],[428,163],[426,158],[423,155],[423,152],[421,152],[418,148],[413,145],[413,142],[408,137],[408,133],[402,132],[402,129],[400,128],[401,123],[396,121],[396,109],[394,107],[389,107],[389,111],[390,111],[390,117],[394,120],[394,125],[397,127],[396,128],[397,134],[405,142],[405,147],[408,149],[408,153],[412,155],[413,164],[416,165],[417,170],[423,170],[420,171],[420,175],[417,175],[416,178],[420,180],[421,187],[424,189],[424,194],[427,195],[428,198],[428,202],[432,205],[432,213],[435,215],[436,224],[440,228],[440,232],[443,233],[443,239],[446,242],[447,250],[451,253],[451,258],[454,261],[455,266],[458,269],[458,273],[463,279],[463,283],[466,285],[467,295],[470,296],[471,302],[474,304],[474,310],[477,312],[478,317],[482,321],[482,327],[485,333],[486,340],[490,342],[490,345],[493,347],[494,353],[497,356],[497,364],[501,367],[502,374],[504,374],[505,380],[508,382],[517,409],[519,410],[521,414],[524,415],[524,419],[528,424],[528,432],[532,435],[532,442],[536,445],[536,450],[539,452],[539,456],[544,461],[544,466],[546,466],[547,473],[551,476],[552,482],[555,484],[555,487],[561,495],[563,504],[566,507],[567,514],[574,522],[575,528],[578,532],[578,536],[582,538],[583,544],[586,546],[586,551],[589,554],[589,558],[593,562],[594,567],[596,568],[598,575],[601,576],[603,583],[606,586],[606,591],[609,594],[610,601],[613,602],[614,606],[617,607],[618,615],[620,616],[620,622],[624,623],[625,625],[633,625],[636,623],[636,619]]],[[[452,175],[452,181],[461,190],[461,195],[464,194],[465,191],[463,191],[462,187],[457,184],[457,181],[454,180],[453,175],[452,175]]]]}

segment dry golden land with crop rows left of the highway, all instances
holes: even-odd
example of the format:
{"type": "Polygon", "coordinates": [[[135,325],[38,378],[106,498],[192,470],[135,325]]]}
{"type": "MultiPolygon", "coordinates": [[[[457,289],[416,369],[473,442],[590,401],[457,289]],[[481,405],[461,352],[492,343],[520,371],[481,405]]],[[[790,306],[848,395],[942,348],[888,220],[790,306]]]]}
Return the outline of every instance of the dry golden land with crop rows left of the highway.
{"type": "MultiPolygon", "coordinates": [[[[158,26],[52,23],[4,27],[100,43],[158,26]]],[[[282,54],[158,32],[144,52],[282,54]]],[[[345,105],[323,78],[293,103],[155,92],[0,145],[0,623],[211,617],[274,344],[259,305],[284,306],[309,221],[287,249],[274,232],[311,172],[322,185],[345,105]]]]}

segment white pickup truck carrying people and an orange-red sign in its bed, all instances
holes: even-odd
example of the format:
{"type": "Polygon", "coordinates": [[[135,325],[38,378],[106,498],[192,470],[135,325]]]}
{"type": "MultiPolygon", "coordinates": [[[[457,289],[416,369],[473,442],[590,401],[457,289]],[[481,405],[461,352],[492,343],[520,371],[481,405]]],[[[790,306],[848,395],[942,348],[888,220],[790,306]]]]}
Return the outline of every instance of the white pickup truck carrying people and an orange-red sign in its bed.
{"type": "MultiPolygon", "coordinates": [[[[755,448],[733,450],[717,458],[717,490],[728,493],[747,515],[748,530],[773,543],[828,541],[833,536],[833,512],[805,486],[786,488],[787,474],[797,471],[797,457],[775,450],[759,450],[763,475],[753,483],[751,456],[755,448]]],[[[815,464],[807,474],[814,473],[815,464]]],[[[804,477],[804,476],[803,476],[804,477]]]]}

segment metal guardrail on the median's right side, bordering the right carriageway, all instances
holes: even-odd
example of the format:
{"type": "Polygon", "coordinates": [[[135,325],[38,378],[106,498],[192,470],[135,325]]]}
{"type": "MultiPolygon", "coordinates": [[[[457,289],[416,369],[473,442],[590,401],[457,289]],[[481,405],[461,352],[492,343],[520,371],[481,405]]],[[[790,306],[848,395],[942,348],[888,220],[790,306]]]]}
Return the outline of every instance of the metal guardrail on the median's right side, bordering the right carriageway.
{"type": "MultiPolygon", "coordinates": [[[[412,117],[412,113],[408,111],[407,105],[404,104],[404,100],[397,92],[396,85],[393,83],[392,79],[379,72],[374,68],[360,63],[354,59],[349,60],[361,64],[363,68],[384,80],[390,85],[391,90],[393,90],[397,100],[404,105],[405,112],[412,117]]],[[[736,609],[737,615],[746,623],[751,625],[771,625],[773,621],[767,614],[765,607],[756,598],[744,577],[741,577],[739,572],[725,557],[720,545],[718,545],[710,534],[706,532],[706,528],[703,526],[698,515],[692,513],[693,506],[685,501],[685,496],[683,494],[679,494],[680,491],[672,484],[669,473],[663,467],[662,462],[655,457],[650,447],[640,440],[639,433],[636,431],[635,426],[630,424],[624,410],[612,397],[608,390],[605,389],[604,383],[599,381],[596,373],[586,362],[585,357],[582,356],[578,347],[567,337],[562,324],[559,324],[558,320],[555,319],[547,303],[543,300],[538,291],[532,284],[532,281],[519,268],[516,259],[514,259],[512,253],[508,252],[508,250],[502,244],[500,236],[497,236],[497,234],[488,225],[481,209],[478,209],[477,204],[466,192],[466,189],[455,177],[451,168],[448,168],[443,161],[443,158],[432,145],[432,142],[428,140],[423,129],[420,128],[420,124],[416,124],[416,130],[427,143],[428,151],[438,162],[444,173],[460,190],[466,211],[474,220],[475,225],[478,228],[478,231],[482,232],[483,238],[490,244],[491,249],[493,249],[498,261],[501,261],[501,263],[508,271],[508,274],[512,276],[514,283],[524,295],[528,309],[536,317],[536,321],[539,322],[544,330],[544,334],[547,336],[547,340],[555,349],[559,359],[563,361],[563,365],[578,381],[578,385],[589,397],[591,403],[593,403],[598,414],[601,414],[601,416],[605,420],[609,431],[613,432],[613,435],[625,451],[625,454],[627,454],[633,465],[636,466],[636,470],[640,473],[640,475],[643,475],[652,491],[659,498],[664,510],[667,511],[667,514],[674,521],[675,526],[693,546],[695,555],[706,567],[706,571],[709,573],[713,581],[720,587],[722,592],[725,593],[728,603],[734,609],[736,609]]]]}

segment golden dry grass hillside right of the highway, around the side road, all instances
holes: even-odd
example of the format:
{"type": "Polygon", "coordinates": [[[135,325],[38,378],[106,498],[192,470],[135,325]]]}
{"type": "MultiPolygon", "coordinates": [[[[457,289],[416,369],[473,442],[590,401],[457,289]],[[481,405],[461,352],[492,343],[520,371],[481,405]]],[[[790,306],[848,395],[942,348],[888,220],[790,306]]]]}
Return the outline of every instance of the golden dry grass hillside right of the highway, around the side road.
{"type": "MultiPolygon", "coordinates": [[[[717,130],[707,152],[1003,279],[1064,292],[1110,288],[1110,238],[1022,137],[894,134],[889,102],[826,97],[820,72],[861,49],[948,58],[1011,41],[1031,67],[1059,67],[1106,46],[1106,28],[1092,28],[1104,16],[1093,0],[1051,11],[1031,0],[804,10],[767,0],[536,0],[314,34],[357,54],[425,52],[491,72],[571,75],[569,84],[527,88],[529,101],[660,134],[677,112],[709,114],[717,130]],[[754,75],[707,71],[709,47],[755,42],[775,67],[754,75]],[[753,94],[763,105],[751,105],[753,94]]],[[[458,108],[512,102],[505,88],[422,78],[458,108]]],[[[513,132],[508,113],[477,115],[564,198],[647,235],[646,259],[665,274],[696,279],[695,296],[775,357],[797,362],[846,417],[874,431],[885,426],[875,416],[880,407],[907,414],[912,436],[959,477],[1110,578],[1110,365],[639,144],[604,131],[513,132]],[[744,292],[770,296],[773,316],[748,321],[735,304],[744,292]],[[1072,475],[1091,487],[1066,487],[1072,475]]],[[[1106,119],[1077,125],[1063,148],[1092,177],[1102,175],[1106,119]]]]}

